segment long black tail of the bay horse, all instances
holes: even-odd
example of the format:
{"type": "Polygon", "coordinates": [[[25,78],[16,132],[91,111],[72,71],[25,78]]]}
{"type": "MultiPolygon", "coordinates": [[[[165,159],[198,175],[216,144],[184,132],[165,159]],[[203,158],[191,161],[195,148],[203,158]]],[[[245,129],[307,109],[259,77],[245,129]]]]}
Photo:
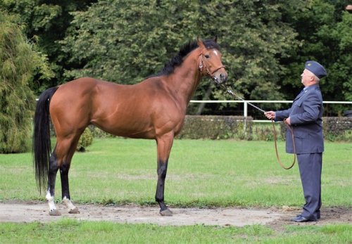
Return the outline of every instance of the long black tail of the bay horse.
{"type": "Polygon", "coordinates": [[[35,179],[37,180],[37,186],[40,192],[42,192],[42,189],[46,188],[48,181],[49,158],[51,153],[49,105],[51,97],[57,89],[57,86],[51,87],[39,96],[33,120],[33,166],[35,179]]]}

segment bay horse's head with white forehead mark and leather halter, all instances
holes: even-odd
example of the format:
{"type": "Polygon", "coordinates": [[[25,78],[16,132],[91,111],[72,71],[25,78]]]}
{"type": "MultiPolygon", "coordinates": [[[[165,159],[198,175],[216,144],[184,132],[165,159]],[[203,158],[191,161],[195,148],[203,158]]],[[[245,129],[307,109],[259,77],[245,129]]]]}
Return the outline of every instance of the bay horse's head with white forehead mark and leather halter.
{"type": "Polygon", "coordinates": [[[218,45],[215,39],[211,40],[216,45],[204,45],[201,39],[197,39],[200,54],[199,54],[199,70],[202,75],[208,75],[214,82],[220,84],[226,82],[227,72],[225,66],[221,62],[221,53],[218,50],[218,45]]]}

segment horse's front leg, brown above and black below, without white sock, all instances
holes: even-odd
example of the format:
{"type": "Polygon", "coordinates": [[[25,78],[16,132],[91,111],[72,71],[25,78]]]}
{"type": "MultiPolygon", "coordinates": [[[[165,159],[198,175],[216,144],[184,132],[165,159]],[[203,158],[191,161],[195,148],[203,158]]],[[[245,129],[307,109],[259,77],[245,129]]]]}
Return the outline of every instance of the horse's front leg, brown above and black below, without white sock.
{"type": "Polygon", "coordinates": [[[156,139],[156,143],[158,144],[158,185],[156,186],[155,198],[156,202],[160,205],[160,214],[163,216],[172,216],[172,212],[164,203],[164,188],[173,138],[173,133],[169,133],[156,139]]]}

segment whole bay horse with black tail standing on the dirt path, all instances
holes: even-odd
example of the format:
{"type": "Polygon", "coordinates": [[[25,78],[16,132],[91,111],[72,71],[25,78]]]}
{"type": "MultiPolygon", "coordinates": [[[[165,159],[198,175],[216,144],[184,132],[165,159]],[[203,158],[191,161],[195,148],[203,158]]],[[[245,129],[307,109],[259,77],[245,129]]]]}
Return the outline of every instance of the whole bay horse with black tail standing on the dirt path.
{"type": "Polygon", "coordinates": [[[190,41],[158,75],[124,85],[83,77],[47,89],[34,114],[34,172],[39,190],[46,188],[49,214],[60,215],[54,203],[58,169],[62,201],[69,213],[79,213],[70,198],[68,171],[78,140],[89,124],[115,136],[154,139],[157,144],[156,202],[160,214],[171,216],[164,203],[164,184],[174,137],[184,123],[187,105],[201,77],[227,80],[215,39],[190,41]],[[56,131],[51,153],[50,118],[56,131]],[[47,185],[46,185],[47,182],[47,185]]]}

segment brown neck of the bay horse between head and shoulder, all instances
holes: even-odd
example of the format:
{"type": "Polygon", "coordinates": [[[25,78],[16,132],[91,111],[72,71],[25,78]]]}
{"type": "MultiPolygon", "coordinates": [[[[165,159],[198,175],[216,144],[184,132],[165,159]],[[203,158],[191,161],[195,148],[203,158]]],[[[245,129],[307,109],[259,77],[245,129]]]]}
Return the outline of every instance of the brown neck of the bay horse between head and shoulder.
{"type": "Polygon", "coordinates": [[[198,56],[188,56],[180,67],[169,76],[168,86],[172,94],[184,105],[188,105],[201,79],[198,56]]]}

